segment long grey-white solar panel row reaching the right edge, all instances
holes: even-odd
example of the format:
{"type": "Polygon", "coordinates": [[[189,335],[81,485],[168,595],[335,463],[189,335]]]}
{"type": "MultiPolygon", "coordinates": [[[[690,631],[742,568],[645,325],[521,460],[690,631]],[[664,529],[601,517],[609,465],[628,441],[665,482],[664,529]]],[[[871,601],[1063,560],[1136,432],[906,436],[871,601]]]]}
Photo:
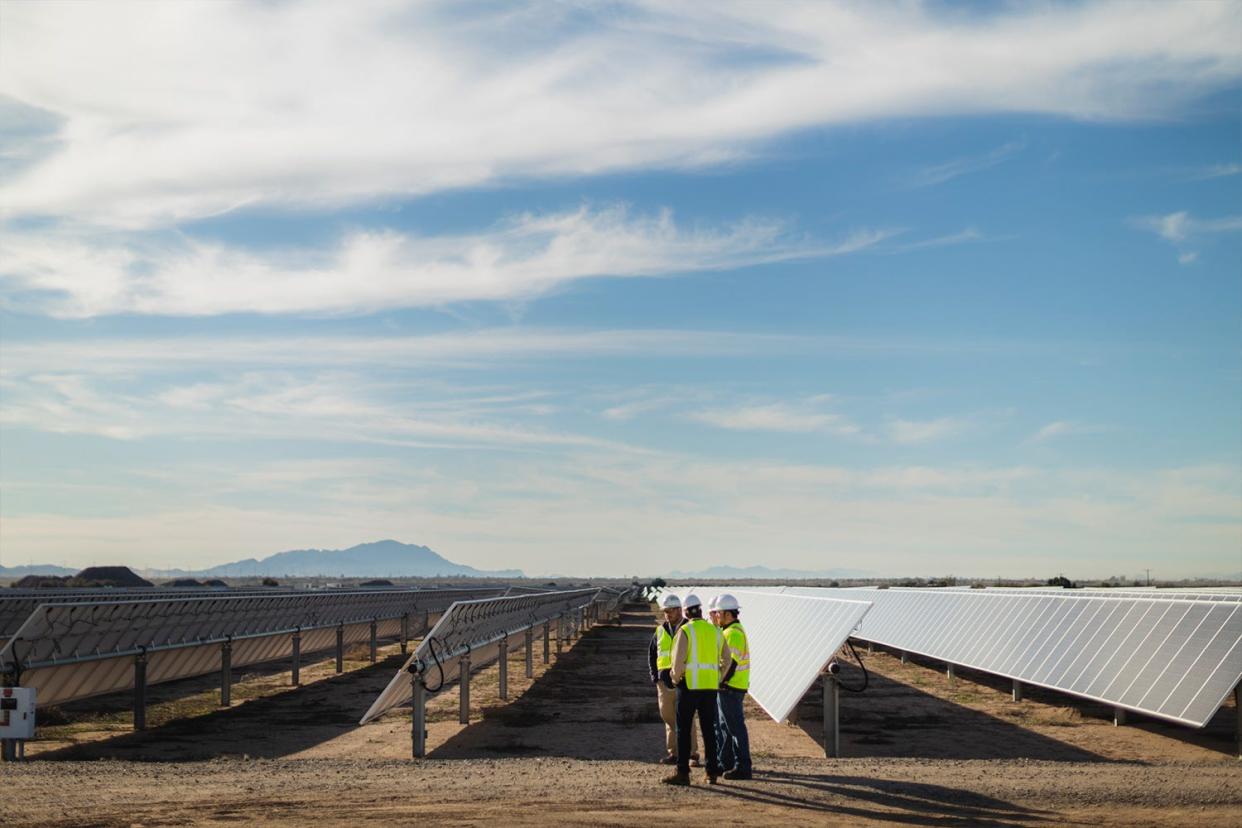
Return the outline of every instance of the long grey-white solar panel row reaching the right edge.
{"type": "MultiPolygon", "coordinates": [[[[863,595],[787,587],[789,595],[863,595]]],[[[1202,727],[1242,680],[1242,601],[1113,591],[869,590],[857,637],[1202,727]]]]}

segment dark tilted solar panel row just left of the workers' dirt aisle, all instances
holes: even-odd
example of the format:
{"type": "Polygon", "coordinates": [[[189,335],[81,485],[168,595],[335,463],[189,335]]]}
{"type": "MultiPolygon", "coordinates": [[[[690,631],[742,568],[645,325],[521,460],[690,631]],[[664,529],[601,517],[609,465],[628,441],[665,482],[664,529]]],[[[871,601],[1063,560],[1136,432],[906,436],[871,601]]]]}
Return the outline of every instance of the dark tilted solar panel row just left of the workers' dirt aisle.
{"type": "Polygon", "coordinates": [[[436,678],[430,680],[438,680],[436,689],[443,689],[457,678],[462,657],[469,657],[472,668],[493,662],[499,655],[499,642],[507,636],[569,616],[590,605],[597,593],[599,590],[592,587],[453,603],[371,703],[359,724],[410,701],[414,695],[411,667],[421,669],[425,675],[435,674],[436,678]]]}

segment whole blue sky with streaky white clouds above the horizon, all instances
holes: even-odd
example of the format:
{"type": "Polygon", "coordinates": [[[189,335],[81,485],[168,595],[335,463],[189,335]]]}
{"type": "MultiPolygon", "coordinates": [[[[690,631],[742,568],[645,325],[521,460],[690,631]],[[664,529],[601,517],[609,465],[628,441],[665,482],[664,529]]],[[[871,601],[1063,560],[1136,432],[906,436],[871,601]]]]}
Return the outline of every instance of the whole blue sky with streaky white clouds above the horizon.
{"type": "Polygon", "coordinates": [[[1242,576],[1242,4],[0,0],[0,564],[1242,576]]]}

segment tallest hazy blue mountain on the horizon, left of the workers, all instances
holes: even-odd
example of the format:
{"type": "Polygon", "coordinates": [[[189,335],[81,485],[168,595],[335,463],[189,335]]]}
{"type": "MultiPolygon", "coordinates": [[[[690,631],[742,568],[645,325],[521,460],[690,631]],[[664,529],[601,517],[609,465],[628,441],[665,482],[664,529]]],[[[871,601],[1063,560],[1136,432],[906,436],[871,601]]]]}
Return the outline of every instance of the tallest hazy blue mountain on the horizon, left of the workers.
{"type": "Polygon", "coordinates": [[[455,564],[426,546],[379,540],[349,549],[296,549],[256,560],[221,564],[207,570],[165,572],[165,576],[195,575],[204,577],[276,576],[337,576],[347,577],[523,577],[520,570],[477,570],[455,564]]]}

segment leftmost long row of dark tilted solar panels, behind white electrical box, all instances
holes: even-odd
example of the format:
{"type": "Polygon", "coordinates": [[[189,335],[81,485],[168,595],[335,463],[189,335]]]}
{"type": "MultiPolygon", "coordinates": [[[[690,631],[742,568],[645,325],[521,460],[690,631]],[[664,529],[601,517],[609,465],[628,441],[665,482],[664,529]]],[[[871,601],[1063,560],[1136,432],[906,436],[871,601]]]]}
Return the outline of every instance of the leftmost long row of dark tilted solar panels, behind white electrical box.
{"type": "Polygon", "coordinates": [[[363,590],[299,595],[230,595],[156,600],[71,601],[41,605],[2,650],[0,670],[21,686],[39,689],[40,704],[56,704],[133,686],[134,657],[147,659],[154,684],[201,675],[222,665],[246,665],[301,652],[327,650],[342,629],[347,644],[401,633],[402,618],[417,624],[462,598],[486,590],[363,590]]]}

